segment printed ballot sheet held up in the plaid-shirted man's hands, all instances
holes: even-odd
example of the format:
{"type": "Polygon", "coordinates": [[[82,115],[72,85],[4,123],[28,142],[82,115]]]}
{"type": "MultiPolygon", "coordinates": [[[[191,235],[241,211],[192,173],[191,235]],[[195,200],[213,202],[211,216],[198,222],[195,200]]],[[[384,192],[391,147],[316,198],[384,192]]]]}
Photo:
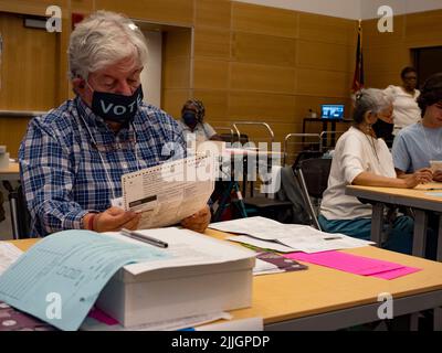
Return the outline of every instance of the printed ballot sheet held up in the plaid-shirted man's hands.
{"type": "Polygon", "coordinates": [[[207,205],[214,179],[211,156],[189,157],[124,174],[123,206],[141,214],[140,229],[173,225],[207,205]]]}

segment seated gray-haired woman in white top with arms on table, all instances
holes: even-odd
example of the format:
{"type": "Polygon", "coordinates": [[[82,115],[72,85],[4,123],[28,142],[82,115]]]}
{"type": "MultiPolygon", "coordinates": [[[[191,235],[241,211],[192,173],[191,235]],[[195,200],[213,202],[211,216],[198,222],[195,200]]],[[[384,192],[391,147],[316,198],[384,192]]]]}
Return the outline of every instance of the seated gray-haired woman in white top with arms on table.
{"type": "MultiPolygon", "coordinates": [[[[414,188],[431,181],[431,173],[420,171],[398,179],[386,142],[377,138],[372,125],[391,110],[391,99],[380,89],[362,89],[356,96],[354,126],[338,140],[332,162],[328,188],[320,204],[319,224],[324,232],[343,233],[370,239],[372,207],[346,195],[347,185],[414,188]]],[[[382,246],[411,254],[413,220],[398,216],[386,224],[388,238],[382,246]]]]}

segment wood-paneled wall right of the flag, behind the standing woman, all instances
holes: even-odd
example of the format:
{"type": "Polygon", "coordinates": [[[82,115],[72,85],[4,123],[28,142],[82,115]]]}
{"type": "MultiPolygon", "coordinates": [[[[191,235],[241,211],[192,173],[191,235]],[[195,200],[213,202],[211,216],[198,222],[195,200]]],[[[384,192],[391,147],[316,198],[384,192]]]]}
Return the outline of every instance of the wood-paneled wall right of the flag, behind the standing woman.
{"type": "Polygon", "coordinates": [[[370,87],[400,85],[401,69],[412,64],[412,49],[442,45],[442,10],[397,15],[392,33],[380,33],[377,22],[362,22],[366,84],[370,87]]]}

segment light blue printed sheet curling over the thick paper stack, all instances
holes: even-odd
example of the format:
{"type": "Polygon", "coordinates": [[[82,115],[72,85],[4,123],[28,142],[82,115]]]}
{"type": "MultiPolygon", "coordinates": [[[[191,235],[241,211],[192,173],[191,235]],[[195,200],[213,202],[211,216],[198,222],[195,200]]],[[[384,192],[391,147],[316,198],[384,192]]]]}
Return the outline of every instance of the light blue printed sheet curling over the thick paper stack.
{"type": "Polygon", "coordinates": [[[0,276],[0,301],[61,330],[77,330],[119,268],[169,257],[140,242],[90,231],[59,232],[31,247],[0,276]]]}

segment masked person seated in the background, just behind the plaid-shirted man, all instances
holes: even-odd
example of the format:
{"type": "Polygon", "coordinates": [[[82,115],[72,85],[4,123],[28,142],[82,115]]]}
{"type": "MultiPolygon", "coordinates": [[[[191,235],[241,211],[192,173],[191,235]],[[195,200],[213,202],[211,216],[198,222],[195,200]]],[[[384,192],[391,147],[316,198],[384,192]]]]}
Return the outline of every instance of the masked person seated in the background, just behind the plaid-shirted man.
{"type": "Polygon", "coordinates": [[[189,138],[189,133],[194,133],[197,142],[207,140],[221,141],[221,137],[217,131],[204,121],[206,109],[201,100],[189,99],[181,109],[181,120],[178,124],[182,128],[185,139],[189,138]]]}

